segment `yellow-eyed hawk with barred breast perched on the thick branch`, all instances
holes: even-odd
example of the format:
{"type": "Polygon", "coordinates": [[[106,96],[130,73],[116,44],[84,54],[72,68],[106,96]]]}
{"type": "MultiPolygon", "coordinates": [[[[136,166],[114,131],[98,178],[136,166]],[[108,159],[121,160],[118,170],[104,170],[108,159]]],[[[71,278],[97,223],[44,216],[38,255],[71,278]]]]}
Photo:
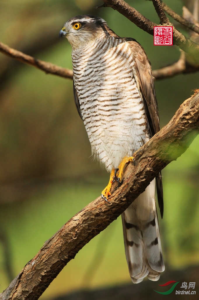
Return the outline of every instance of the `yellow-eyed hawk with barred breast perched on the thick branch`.
{"type": "MultiPolygon", "coordinates": [[[[134,161],[133,153],[160,130],[151,66],[136,40],[119,37],[100,17],[75,16],[59,35],[72,46],[74,100],[92,153],[111,173],[102,191],[107,200],[113,181],[121,184],[125,164],[134,161]]],[[[144,277],[156,281],[165,268],[155,185],[163,216],[161,174],[122,214],[133,283],[144,277]]]]}

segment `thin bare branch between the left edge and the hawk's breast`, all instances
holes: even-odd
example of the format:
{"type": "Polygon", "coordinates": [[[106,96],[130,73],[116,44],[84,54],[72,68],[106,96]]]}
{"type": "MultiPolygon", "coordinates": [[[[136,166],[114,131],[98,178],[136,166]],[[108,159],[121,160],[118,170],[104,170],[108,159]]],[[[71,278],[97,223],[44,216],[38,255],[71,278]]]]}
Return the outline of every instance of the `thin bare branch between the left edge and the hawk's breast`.
{"type": "Polygon", "coordinates": [[[40,59],[36,59],[30,55],[24,54],[21,51],[10,48],[9,46],[0,42],[0,52],[15,58],[25,64],[30,64],[46,73],[59,75],[64,78],[73,78],[73,71],[69,69],[65,69],[62,67],[58,67],[55,64],[51,64],[50,62],[42,61],[40,59]]]}

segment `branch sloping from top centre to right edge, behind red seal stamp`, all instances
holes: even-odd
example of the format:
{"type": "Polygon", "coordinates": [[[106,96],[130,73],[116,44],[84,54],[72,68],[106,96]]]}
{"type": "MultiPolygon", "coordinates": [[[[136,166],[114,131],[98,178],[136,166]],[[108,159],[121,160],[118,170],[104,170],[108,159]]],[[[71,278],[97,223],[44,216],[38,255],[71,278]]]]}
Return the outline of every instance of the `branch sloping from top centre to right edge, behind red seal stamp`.
{"type": "MultiPolygon", "coordinates": [[[[154,22],[151,22],[149,19],[145,18],[141,13],[131,7],[128,3],[123,0],[103,0],[105,7],[112,7],[117,10],[119,13],[123,14],[131,22],[136,24],[138,27],[148,32],[150,35],[153,35],[154,26],[158,26],[154,22]]],[[[168,24],[173,26],[172,23],[168,24]]],[[[199,62],[199,45],[191,41],[189,38],[186,38],[182,33],[180,33],[173,26],[173,44],[177,45],[183,51],[189,53],[190,55],[197,58],[199,62]]]]}

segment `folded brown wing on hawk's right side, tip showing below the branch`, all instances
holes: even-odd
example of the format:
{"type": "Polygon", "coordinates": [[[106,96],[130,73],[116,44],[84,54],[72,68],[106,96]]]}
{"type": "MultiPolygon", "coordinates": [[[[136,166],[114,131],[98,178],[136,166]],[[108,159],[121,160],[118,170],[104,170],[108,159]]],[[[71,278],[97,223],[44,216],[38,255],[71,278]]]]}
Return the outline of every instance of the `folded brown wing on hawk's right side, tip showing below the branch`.
{"type": "MultiPolygon", "coordinates": [[[[151,65],[142,46],[134,39],[125,38],[131,49],[135,61],[134,77],[143,99],[148,129],[151,137],[160,130],[159,113],[154,89],[154,77],[151,65]]],[[[163,187],[161,172],[156,177],[157,198],[160,214],[163,217],[163,187]]]]}

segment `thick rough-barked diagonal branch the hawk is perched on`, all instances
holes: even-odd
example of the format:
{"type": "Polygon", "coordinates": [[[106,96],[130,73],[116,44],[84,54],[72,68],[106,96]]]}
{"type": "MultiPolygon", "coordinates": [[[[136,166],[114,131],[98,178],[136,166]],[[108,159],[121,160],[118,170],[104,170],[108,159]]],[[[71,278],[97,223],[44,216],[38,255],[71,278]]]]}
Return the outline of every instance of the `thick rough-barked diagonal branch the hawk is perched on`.
{"type": "Polygon", "coordinates": [[[124,182],[109,199],[98,197],[72,217],[25,265],[1,300],[36,300],[62,268],[100,231],[115,220],[142,193],[149,182],[171,161],[176,160],[198,134],[199,90],[184,101],[171,121],[134,153],[124,182]]]}

